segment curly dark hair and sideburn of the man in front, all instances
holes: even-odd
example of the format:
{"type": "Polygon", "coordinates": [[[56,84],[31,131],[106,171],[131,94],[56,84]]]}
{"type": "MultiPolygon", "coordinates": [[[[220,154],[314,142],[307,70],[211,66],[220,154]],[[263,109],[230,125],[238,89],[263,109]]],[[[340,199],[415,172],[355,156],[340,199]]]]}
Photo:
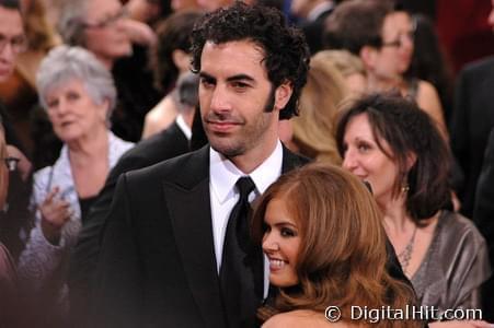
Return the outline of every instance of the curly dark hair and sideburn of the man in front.
{"type": "Polygon", "coordinates": [[[307,81],[310,52],[303,34],[289,26],[284,14],[273,8],[235,2],[199,20],[192,33],[192,69],[200,71],[200,55],[206,42],[225,44],[251,40],[265,52],[267,77],[275,87],[286,81],[294,93],[279,112],[279,119],[298,115],[298,98],[307,81]]]}

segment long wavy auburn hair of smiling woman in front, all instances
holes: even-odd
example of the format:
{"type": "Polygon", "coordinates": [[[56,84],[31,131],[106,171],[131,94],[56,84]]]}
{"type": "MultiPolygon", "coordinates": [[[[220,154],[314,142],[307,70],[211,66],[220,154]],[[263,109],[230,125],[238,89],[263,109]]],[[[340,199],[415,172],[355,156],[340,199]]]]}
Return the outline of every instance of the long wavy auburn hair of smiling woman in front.
{"type": "MultiPolygon", "coordinates": [[[[349,323],[353,305],[397,309],[415,303],[412,289],[387,271],[379,208],[351,173],[310,164],[282,176],[255,208],[252,233],[257,243],[264,235],[267,204],[275,198],[285,200],[301,238],[296,265],[299,283],[279,290],[276,312],[310,309],[323,314],[334,305],[342,311],[342,320],[349,323]]],[[[383,320],[379,327],[415,325],[418,327],[418,323],[383,320]]]]}

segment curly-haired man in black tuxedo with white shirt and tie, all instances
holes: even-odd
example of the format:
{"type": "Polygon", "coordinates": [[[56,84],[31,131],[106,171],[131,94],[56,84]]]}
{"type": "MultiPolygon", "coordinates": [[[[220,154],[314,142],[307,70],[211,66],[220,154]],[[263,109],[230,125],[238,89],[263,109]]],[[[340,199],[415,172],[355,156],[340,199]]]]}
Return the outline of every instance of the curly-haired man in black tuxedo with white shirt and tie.
{"type": "Polygon", "coordinates": [[[229,260],[223,239],[240,177],[251,177],[255,198],[282,172],[306,163],[282,145],[277,131],[278,120],[297,112],[307,44],[279,11],[240,2],[203,17],[192,43],[210,147],[120,176],[103,235],[92,327],[251,327],[266,295],[267,284],[252,273],[259,267],[246,262],[237,272],[245,280],[220,286],[229,260]],[[235,301],[252,311],[231,309],[226,293],[238,283],[246,290],[235,301]]]}

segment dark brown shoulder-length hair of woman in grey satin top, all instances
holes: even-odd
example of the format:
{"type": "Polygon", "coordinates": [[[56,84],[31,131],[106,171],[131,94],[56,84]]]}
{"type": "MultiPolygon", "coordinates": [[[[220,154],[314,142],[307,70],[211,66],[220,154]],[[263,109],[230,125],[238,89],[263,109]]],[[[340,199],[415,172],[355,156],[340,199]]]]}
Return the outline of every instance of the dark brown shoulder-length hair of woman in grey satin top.
{"type": "Polygon", "coordinates": [[[406,183],[406,211],[420,223],[429,219],[450,203],[450,152],[427,115],[417,115],[421,110],[414,102],[398,93],[370,94],[351,104],[343,110],[337,121],[336,142],[343,156],[343,138],[348,122],[357,115],[366,114],[379,149],[398,163],[399,176],[394,181],[394,196],[402,192],[406,183]],[[383,148],[380,140],[389,145],[383,148]],[[409,168],[410,154],[416,154],[416,161],[409,168]]]}

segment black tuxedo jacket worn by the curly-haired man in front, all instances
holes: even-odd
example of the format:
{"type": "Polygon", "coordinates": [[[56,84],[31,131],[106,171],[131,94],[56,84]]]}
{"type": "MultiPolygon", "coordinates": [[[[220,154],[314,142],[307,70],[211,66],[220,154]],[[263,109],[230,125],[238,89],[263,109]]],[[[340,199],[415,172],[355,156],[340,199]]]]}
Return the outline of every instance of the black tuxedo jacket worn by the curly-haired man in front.
{"type": "MultiPolygon", "coordinates": [[[[284,149],[284,173],[307,162],[284,149]]],[[[208,147],[122,175],[91,326],[226,327],[210,212],[208,147]]]]}

